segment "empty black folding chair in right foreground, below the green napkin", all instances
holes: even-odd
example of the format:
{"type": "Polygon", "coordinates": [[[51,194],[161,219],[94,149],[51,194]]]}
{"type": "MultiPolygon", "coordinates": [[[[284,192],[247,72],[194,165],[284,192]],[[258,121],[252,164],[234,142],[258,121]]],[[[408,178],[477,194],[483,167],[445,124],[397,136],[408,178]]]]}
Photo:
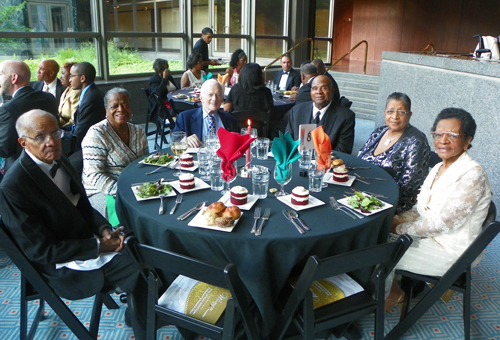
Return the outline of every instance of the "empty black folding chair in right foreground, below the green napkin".
{"type": "Polygon", "coordinates": [[[412,239],[408,235],[401,235],[396,242],[325,259],[319,259],[317,256],[309,257],[295,287],[286,299],[282,312],[278,315],[269,339],[326,338],[332,328],[371,313],[375,313],[374,338],[383,339],[385,279],[411,243],[412,239]],[[371,273],[368,282],[361,282],[356,277],[359,273],[356,271],[362,269],[371,273]],[[348,273],[364,290],[313,309],[312,292],[309,290],[311,284],[342,273],[348,273]]]}

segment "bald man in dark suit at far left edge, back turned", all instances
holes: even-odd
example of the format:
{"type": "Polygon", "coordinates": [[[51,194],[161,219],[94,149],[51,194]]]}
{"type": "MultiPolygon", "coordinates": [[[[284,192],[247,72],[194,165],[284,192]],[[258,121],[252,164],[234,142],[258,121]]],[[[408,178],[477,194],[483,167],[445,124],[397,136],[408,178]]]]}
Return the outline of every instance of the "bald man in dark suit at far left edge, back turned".
{"type": "Polygon", "coordinates": [[[15,129],[17,118],[33,109],[42,109],[58,117],[55,97],[35,91],[30,86],[30,77],[30,69],[22,61],[5,60],[0,63],[0,95],[12,96],[10,101],[0,107],[0,157],[4,159],[3,166],[0,166],[2,173],[7,172],[22,151],[15,129]]]}

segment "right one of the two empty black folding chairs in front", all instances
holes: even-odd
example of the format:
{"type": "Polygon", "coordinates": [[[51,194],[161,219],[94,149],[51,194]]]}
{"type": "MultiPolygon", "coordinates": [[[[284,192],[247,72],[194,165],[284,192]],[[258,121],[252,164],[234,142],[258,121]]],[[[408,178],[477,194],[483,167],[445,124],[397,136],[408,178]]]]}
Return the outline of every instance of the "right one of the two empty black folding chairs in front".
{"type": "MultiPolygon", "coordinates": [[[[284,337],[294,315],[301,305],[303,305],[304,316],[302,319],[305,320],[304,322],[309,321],[309,323],[312,322],[314,326],[318,325],[316,320],[314,320],[315,312],[312,311],[312,294],[309,290],[313,281],[326,279],[342,273],[351,273],[363,268],[370,268],[371,270],[375,268],[370,282],[362,284],[365,289],[365,294],[363,294],[363,296],[365,296],[365,299],[372,299],[372,301],[367,303],[366,301],[358,300],[357,302],[360,303],[350,306],[348,312],[353,312],[356,315],[354,316],[355,320],[359,318],[360,313],[367,314],[375,310],[379,326],[380,324],[383,325],[386,276],[392,271],[411,243],[412,239],[408,235],[401,235],[396,242],[384,243],[325,259],[311,256],[302,270],[282,313],[279,315],[270,338],[282,339],[284,337]],[[309,302],[307,302],[307,300],[309,300],[309,302]]],[[[349,297],[346,299],[349,299],[349,297]]],[[[328,318],[327,315],[322,315],[321,322],[325,323],[323,330],[331,329],[338,324],[348,321],[348,318],[346,319],[346,313],[335,306],[336,304],[340,306],[339,303],[342,303],[343,300],[339,300],[318,309],[318,311],[323,308],[326,310],[334,309],[336,314],[342,315],[342,318],[338,321],[328,318]]],[[[349,305],[349,303],[347,304],[349,305]]],[[[304,328],[309,328],[309,325],[304,325],[304,328]]],[[[314,333],[321,330],[322,329],[315,329],[314,333]]],[[[383,327],[376,327],[376,333],[379,335],[376,338],[380,338],[380,334],[383,335],[383,327]]],[[[312,334],[306,335],[305,338],[309,338],[309,336],[312,336],[312,334]]]]}

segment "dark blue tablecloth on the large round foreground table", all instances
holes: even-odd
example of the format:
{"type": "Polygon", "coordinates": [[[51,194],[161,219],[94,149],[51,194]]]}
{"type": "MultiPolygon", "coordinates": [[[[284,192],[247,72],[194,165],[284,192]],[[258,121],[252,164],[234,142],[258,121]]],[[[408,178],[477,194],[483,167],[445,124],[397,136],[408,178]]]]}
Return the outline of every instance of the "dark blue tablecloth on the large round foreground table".
{"type": "MultiPolygon", "coordinates": [[[[169,150],[162,150],[167,153],[169,150]]],[[[370,184],[355,180],[353,188],[383,194],[384,202],[394,205],[399,189],[392,177],[383,169],[354,156],[335,153],[351,167],[369,167],[369,169],[350,170],[361,176],[386,179],[387,181],[367,180],[370,184]]],[[[352,219],[345,213],[334,210],[328,204],[328,197],[343,198],[350,188],[329,184],[318,193],[311,193],[325,204],[299,211],[299,217],[311,231],[300,234],[283,215],[282,209],[290,207],[278,200],[273,194],[266,199],[259,199],[243,215],[231,232],[222,232],[188,226],[191,218],[185,221],[177,217],[196,204],[207,204],[221,199],[221,193],[210,188],[184,193],[184,199],[174,215],[159,215],[159,200],[137,201],[131,189],[132,183],[152,181],[160,178],[175,179],[173,170],[163,168],[153,175],[146,172],[152,166],[139,164],[142,158],[129,164],[118,180],[116,210],[119,220],[128,230],[133,231],[140,242],[161,249],[191,256],[216,266],[224,267],[233,263],[238,268],[243,283],[248,288],[261,314],[263,334],[267,335],[274,324],[276,310],[274,303],[291,273],[300,271],[310,255],[320,258],[341,254],[355,249],[375,245],[387,240],[390,223],[395,208],[380,211],[363,219],[352,219]],[[250,233],[254,223],[254,209],[271,208],[270,219],[265,223],[262,235],[250,233]]],[[[242,165],[243,158],[239,160],[242,165]]],[[[252,159],[252,164],[259,164],[270,170],[270,188],[279,185],[273,179],[275,161],[252,159]]],[[[295,186],[308,187],[308,178],[299,175],[298,162],[293,164],[293,176],[285,186],[287,192],[295,186]]],[[[198,176],[197,171],[194,172],[198,176]]],[[[238,177],[231,186],[241,185],[251,193],[252,183],[249,178],[238,177]]],[[[165,211],[175,204],[175,197],[165,200],[165,211]]],[[[363,274],[361,274],[363,275],[363,274]]],[[[364,279],[368,278],[364,273],[364,279]]]]}

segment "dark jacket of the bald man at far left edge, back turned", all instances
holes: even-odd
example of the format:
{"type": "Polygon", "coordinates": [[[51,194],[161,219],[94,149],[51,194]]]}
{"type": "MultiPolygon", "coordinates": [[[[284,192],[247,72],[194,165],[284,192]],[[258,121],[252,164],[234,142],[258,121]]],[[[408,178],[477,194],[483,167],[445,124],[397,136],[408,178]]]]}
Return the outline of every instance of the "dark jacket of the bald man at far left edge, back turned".
{"type": "Polygon", "coordinates": [[[56,98],[50,93],[35,91],[31,86],[20,88],[14,98],[0,107],[0,157],[5,159],[4,171],[11,167],[22,151],[17,142],[16,120],[33,109],[48,111],[59,121],[56,98]]]}

